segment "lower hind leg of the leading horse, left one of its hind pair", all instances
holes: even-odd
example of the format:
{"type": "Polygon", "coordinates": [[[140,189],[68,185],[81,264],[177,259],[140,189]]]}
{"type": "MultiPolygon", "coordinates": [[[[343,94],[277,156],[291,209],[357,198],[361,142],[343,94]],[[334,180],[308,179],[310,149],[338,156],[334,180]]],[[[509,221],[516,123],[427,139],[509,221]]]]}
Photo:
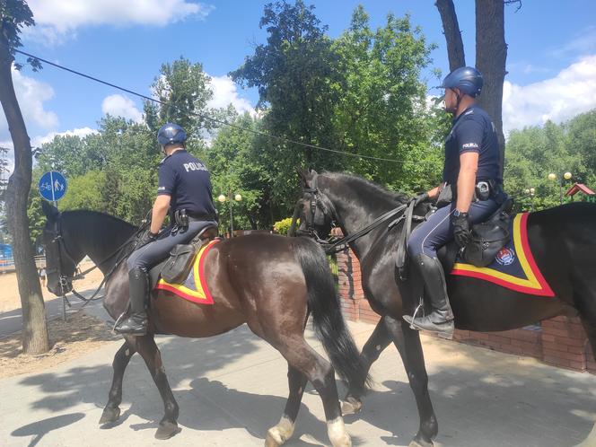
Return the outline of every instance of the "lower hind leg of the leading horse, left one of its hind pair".
{"type": "Polygon", "coordinates": [[[276,426],[269,428],[267,431],[266,447],[278,447],[294,434],[296,416],[298,416],[298,410],[300,410],[302,394],[304,394],[307,380],[304,374],[288,363],[287,381],[290,394],[285,403],[284,415],[276,426]]]}

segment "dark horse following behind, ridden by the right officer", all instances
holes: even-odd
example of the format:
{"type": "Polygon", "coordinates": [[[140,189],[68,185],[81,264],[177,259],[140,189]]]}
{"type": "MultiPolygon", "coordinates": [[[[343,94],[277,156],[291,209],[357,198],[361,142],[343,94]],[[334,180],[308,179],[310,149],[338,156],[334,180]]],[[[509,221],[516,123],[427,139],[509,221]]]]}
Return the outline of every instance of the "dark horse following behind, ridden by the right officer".
{"type": "MultiPolygon", "coordinates": [[[[302,230],[311,226],[319,238],[337,224],[344,235],[354,234],[378,216],[408,202],[367,180],[342,174],[302,173],[304,195],[302,230]]],[[[420,205],[424,207],[425,205],[420,205]]],[[[420,209],[425,215],[425,210],[420,209]]],[[[408,373],[420,417],[418,433],[410,446],[430,447],[438,433],[428,394],[428,376],[416,330],[402,324],[412,314],[418,297],[411,281],[396,281],[399,230],[388,223],[350,243],[360,260],[364,294],[381,320],[361,353],[370,368],[390,342],[398,348],[408,373]]],[[[556,296],[542,297],[494,285],[477,278],[447,275],[451,306],[458,329],[496,331],[521,328],[557,315],[581,317],[592,350],[596,348],[596,205],[574,203],[530,214],[530,249],[542,275],[556,296]]],[[[349,390],[344,414],[362,406],[359,390],[349,390]]]]}

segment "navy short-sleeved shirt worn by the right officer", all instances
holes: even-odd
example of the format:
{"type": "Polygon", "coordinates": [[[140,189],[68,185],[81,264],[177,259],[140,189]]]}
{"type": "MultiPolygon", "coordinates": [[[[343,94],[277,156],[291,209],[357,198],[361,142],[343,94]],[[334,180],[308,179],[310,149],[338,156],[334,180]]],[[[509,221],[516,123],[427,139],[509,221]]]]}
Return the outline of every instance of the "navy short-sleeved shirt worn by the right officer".
{"type": "Polygon", "coordinates": [[[460,174],[460,155],[478,153],[476,181],[501,178],[501,156],[496,139],[495,125],[485,110],[472,105],[453,120],[451,132],[445,140],[443,181],[454,185],[460,174]]]}

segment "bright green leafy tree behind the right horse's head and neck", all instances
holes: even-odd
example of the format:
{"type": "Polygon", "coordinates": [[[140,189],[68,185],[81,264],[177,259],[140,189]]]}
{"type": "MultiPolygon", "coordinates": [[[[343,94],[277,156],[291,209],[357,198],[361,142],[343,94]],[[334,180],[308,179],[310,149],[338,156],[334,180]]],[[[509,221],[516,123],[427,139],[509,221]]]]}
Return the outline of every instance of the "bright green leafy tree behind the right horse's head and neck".
{"type": "Polygon", "coordinates": [[[408,15],[389,14],[383,27],[371,30],[358,6],[333,48],[345,74],[335,112],[340,149],[403,161],[346,157],[346,169],[390,188],[430,188],[441,172],[446,123],[443,111],[427,106],[420,72],[435,46],[408,15]]]}

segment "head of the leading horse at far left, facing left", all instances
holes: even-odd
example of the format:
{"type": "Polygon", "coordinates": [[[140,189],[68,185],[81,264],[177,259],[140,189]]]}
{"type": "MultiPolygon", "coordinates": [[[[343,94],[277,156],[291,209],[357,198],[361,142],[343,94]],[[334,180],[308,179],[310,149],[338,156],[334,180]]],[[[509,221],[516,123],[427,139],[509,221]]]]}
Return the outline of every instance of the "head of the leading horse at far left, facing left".
{"type": "Polygon", "coordinates": [[[41,207],[47,218],[42,238],[46,250],[48,290],[61,296],[73,290],[76,266],[83,259],[83,253],[74,247],[72,241],[66,241],[68,232],[57,207],[45,200],[42,201],[41,207]]]}

